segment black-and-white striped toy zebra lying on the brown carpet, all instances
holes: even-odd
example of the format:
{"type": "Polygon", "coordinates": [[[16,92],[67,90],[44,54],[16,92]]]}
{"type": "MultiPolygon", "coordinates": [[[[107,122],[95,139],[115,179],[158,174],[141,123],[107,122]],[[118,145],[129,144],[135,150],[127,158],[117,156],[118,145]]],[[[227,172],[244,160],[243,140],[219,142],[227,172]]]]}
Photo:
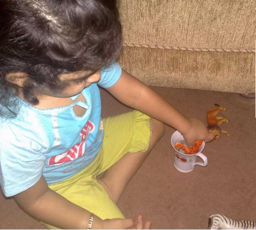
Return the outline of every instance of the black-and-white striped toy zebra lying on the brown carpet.
{"type": "Polygon", "coordinates": [[[233,220],[223,214],[213,214],[209,217],[210,229],[256,229],[256,222],[233,220]]]}

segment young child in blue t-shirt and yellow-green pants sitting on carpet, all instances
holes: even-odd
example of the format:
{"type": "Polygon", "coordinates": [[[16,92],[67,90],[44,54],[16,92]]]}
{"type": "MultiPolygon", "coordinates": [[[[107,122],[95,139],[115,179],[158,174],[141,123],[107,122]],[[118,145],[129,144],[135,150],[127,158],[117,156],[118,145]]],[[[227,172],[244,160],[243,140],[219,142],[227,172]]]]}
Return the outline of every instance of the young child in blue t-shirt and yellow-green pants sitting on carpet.
{"type": "Polygon", "coordinates": [[[5,196],[48,228],[148,229],[116,203],[163,123],[189,147],[214,135],[114,61],[122,47],[114,0],[2,0],[0,10],[5,196]],[[98,86],[136,110],[102,121],[98,86]]]}

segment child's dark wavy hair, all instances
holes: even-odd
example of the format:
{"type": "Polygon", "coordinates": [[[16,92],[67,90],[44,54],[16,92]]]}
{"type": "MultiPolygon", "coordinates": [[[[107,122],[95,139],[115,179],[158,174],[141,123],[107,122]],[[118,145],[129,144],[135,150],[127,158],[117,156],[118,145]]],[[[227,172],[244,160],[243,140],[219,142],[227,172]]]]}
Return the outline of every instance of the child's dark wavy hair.
{"type": "Polygon", "coordinates": [[[0,1],[0,116],[15,117],[8,73],[28,76],[23,96],[36,105],[35,86],[58,89],[58,76],[97,71],[122,47],[115,0],[0,1]]]}

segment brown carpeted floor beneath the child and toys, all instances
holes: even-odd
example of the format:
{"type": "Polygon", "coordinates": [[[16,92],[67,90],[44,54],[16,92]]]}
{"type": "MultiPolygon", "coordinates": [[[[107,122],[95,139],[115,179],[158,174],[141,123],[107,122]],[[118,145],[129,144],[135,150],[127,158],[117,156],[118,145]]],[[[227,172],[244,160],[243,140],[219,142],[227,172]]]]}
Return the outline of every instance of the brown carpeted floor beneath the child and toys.
{"type": "MultiPolygon", "coordinates": [[[[201,118],[218,103],[226,107],[220,116],[229,123],[222,134],[207,143],[203,154],[208,166],[182,173],[174,167],[170,144],[175,130],[166,126],[164,137],[128,184],[118,202],[124,215],[142,214],[151,229],[207,229],[208,218],[223,213],[236,220],[256,221],[256,118],[255,100],[236,93],[153,87],[187,117],[201,118]]],[[[102,117],[130,111],[106,91],[102,93],[102,117]]],[[[150,106],[150,105],[149,105],[150,106]]],[[[0,194],[0,229],[45,229],[25,214],[12,198],[0,194]]]]}

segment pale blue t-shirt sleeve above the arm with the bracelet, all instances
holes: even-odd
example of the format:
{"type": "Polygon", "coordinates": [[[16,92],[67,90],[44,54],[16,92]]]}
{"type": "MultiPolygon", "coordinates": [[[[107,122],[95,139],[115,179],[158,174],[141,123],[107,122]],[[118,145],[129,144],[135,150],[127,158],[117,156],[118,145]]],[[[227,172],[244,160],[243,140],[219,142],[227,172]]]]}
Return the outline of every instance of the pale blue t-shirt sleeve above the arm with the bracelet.
{"type": "Polygon", "coordinates": [[[44,154],[18,127],[1,128],[0,185],[6,197],[32,187],[41,177],[44,154]]]}

